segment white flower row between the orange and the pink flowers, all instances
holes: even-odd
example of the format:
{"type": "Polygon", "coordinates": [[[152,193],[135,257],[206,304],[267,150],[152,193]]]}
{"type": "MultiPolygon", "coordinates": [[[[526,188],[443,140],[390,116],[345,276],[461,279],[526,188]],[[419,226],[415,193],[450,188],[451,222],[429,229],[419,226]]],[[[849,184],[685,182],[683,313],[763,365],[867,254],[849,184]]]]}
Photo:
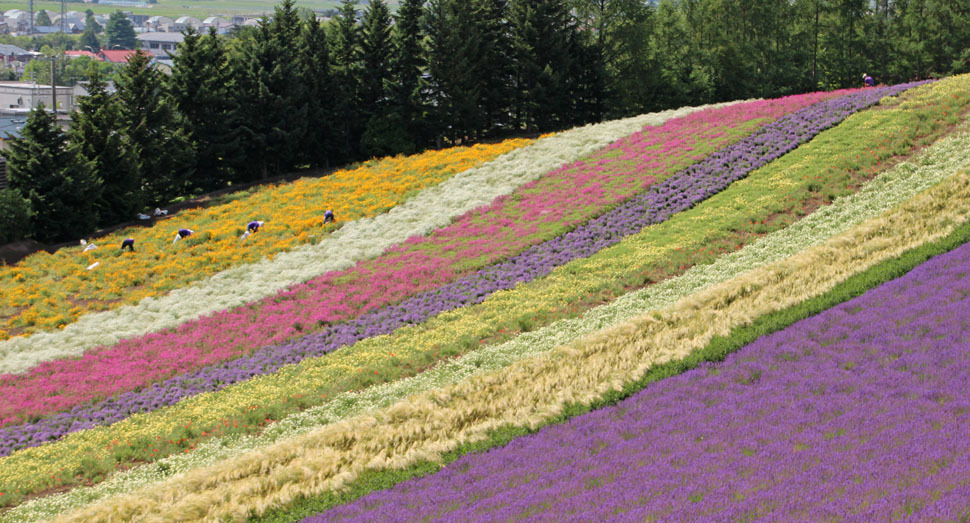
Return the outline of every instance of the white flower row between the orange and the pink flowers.
{"type": "MultiPolygon", "coordinates": [[[[729,105],[729,104],[720,104],[729,105]]],[[[455,217],[575,161],[647,125],[661,125],[712,106],[688,107],[556,134],[425,189],[389,212],[347,223],[330,237],[281,253],[272,260],[235,267],[137,305],[81,317],[63,330],[0,342],[0,373],[19,373],[56,358],[175,327],[206,314],[249,303],[373,258],[409,237],[428,234],[455,217]]]]}

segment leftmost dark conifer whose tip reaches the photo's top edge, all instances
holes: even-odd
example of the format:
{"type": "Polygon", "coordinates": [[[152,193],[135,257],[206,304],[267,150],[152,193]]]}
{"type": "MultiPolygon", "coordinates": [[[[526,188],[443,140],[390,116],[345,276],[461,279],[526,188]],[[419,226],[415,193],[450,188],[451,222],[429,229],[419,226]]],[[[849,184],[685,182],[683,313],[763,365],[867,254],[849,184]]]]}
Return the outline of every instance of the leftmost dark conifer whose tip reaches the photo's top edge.
{"type": "Polygon", "coordinates": [[[297,149],[307,132],[307,107],[294,45],[300,26],[293,0],[284,0],[273,20],[261,21],[237,56],[239,121],[249,179],[296,167],[297,149]]]}

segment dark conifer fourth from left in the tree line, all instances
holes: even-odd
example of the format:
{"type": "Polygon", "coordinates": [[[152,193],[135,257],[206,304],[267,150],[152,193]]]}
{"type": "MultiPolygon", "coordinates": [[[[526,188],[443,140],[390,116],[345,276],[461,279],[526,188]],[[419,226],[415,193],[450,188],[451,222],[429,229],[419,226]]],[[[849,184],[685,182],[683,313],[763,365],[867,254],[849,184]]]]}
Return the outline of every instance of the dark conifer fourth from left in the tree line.
{"type": "Polygon", "coordinates": [[[194,151],[192,184],[204,191],[236,179],[242,150],[226,49],[215,34],[189,29],[174,57],[168,91],[194,151]]]}

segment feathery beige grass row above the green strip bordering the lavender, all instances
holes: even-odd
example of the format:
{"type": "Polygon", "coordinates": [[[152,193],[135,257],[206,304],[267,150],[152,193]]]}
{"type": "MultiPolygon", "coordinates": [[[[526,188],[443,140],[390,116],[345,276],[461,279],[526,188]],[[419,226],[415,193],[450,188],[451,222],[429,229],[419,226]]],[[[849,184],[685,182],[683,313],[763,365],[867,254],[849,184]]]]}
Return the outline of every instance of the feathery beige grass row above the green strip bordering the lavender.
{"type": "Polygon", "coordinates": [[[753,270],[546,356],[369,416],[322,427],[65,516],[70,521],[244,520],[353,481],[366,469],[437,460],[503,425],[536,427],[574,402],[589,402],[652,365],[704,346],[715,335],[818,296],[849,276],[970,219],[964,171],[826,243],[753,270]]]}

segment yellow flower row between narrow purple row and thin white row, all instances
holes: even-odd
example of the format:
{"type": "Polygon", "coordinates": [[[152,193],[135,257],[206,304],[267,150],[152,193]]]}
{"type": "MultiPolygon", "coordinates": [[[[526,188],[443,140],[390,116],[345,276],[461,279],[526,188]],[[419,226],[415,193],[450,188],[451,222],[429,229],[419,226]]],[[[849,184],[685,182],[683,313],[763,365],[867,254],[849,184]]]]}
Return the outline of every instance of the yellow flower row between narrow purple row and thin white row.
{"type": "MultiPolygon", "coordinates": [[[[936,92],[924,89],[915,96],[927,97],[936,92]]],[[[844,136],[855,136],[863,144],[881,142],[905,124],[894,117],[900,112],[890,108],[858,113],[837,129],[820,134],[810,144],[755,171],[697,207],[647,227],[595,256],[560,267],[546,278],[496,293],[481,304],[443,313],[424,324],[364,340],[325,357],[285,367],[272,375],[187,398],[154,413],[135,415],[110,427],[73,433],[49,445],[18,451],[0,460],[0,485],[43,481],[64,468],[76,469],[82,457],[107,458],[110,456],[107,447],[114,440],[152,439],[187,423],[195,427],[217,424],[238,416],[254,403],[254,398],[258,398],[260,405],[272,405],[283,403],[294,394],[319,397],[320,391],[339,384],[360,369],[390,364],[395,358],[407,359],[429,349],[433,351],[436,346],[453,344],[463,337],[478,340],[492,336],[499,326],[536,311],[579,302],[604,285],[602,279],[590,278],[590,274],[625,272],[631,266],[647,266],[667,259],[681,249],[696,249],[704,244],[711,231],[730,228],[732,220],[738,218],[737,211],[744,210],[749,215],[770,214],[778,201],[816,172],[820,159],[855,154],[847,148],[852,144],[840,141],[844,136]],[[857,134],[862,129],[869,131],[857,134]]]]}

